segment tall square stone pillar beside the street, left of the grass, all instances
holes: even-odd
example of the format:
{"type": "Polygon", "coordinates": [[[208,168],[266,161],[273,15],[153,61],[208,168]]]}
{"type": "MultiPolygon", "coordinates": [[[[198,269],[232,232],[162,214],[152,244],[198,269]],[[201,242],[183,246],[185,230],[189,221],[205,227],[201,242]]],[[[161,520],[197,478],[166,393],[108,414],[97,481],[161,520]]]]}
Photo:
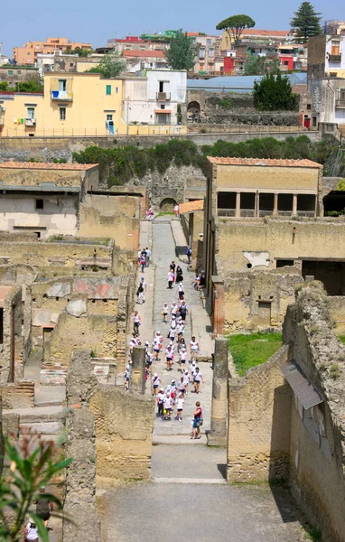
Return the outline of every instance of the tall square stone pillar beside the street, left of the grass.
{"type": "Polygon", "coordinates": [[[227,445],[228,413],[228,339],[219,337],[215,341],[212,405],[210,415],[210,446],[227,445]]]}

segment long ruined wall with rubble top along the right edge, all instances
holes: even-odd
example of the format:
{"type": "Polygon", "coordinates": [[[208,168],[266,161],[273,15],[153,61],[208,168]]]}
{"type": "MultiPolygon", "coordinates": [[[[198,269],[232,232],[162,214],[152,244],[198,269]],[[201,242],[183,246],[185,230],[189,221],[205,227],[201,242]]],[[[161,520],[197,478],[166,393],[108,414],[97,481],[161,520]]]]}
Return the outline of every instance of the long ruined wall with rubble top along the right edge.
{"type": "Polygon", "coordinates": [[[336,338],[328,298],[305,287],[284,322],[288,359],[300,367],[322,403],[303,408],[294,395],[290,483],[294,498],[322,539],[343,542],[345,533],[345,348],[336,338]]]}

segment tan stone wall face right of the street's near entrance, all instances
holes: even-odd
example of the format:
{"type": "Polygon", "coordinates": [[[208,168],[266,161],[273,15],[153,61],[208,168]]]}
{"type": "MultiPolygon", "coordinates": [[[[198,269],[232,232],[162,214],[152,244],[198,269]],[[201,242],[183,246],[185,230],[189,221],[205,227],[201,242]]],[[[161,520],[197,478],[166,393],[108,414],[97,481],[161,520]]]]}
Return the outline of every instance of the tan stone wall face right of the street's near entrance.
{"type": "Polygon", "coordinates": [[[228,481],[286,480],[291,389],[280,369],[287,347],[228,380],[228,481]]]}

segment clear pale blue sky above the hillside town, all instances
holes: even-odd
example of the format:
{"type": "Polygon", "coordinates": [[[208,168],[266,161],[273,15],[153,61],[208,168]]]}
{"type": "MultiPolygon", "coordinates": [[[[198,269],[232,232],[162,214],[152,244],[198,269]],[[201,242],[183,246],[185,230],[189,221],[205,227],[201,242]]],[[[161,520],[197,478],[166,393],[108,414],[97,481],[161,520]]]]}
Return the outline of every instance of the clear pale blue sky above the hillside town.
{"type": "MultiPolygon", "coordinates": [[[[183,28],[191,32],[217,33],[216,24],[238,13],[250,15],[256,28],[285,30],[301,0],[247,0],[243,9],[226,0],[130,0],[114,2],[91,0],[70,2],[3,2],[0,16],[0,42],[3,54],[24,42],[46,37],[67,37],[75,42],[91,42],[99,47],[107,38],[162,32],[183,28]]],[[[313,4],[313,2],[312,2],[313,4]]],[[[318,0],[313,4],[323,19],[345,20],[343,0],[318,0]]]]}

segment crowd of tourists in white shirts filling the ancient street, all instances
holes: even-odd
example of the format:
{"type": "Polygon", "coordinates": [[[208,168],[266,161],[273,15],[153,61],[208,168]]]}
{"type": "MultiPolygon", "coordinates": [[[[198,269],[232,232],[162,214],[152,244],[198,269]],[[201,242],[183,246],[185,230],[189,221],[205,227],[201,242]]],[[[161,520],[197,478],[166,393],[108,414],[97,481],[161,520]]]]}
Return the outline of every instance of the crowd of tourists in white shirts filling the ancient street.
{"type": "MultiPolygon", "coordinates": [[[[191,262],[191,248],[187,248],[188,261],[191,262]]],[[[138,266],[142,272],[149,266],[151,252],[148,248],[143,248],[138,252],[138,266]]],[[[200,275],[201,276],[201,275],[200,275]]],[[[194,287],[200,286],[200,276],[194,279],[194,287]]],[[[169,266],[167,273],[167,289],[175,289],[175,301],[172,304],[164,303],[162,306],[162,324],[165,332],[155,332],[154,340],[150,344],[145,341],[145,379],[151,384],[154,394],[157,413],[164,422],[175,420],[182,422],[183,409],[187,398],[191,393],[199,395],[200,384],[204,382],[201,371],[197,365],[197,356],[200,352],[199,341],[192,336],[189,344],[185,341],[185,329],[188,325],[188,306],[185,299],[185,290],[183,285],[184,277],[182,267],[176,265],[174,261],[169,266]],[[164,360],[164,369],[168,373],[176,371],[178,376],[169,379],[167,385],[155,371],[154,365],[157,361],[164,360]]],[[[145,276],[142,276],[136,291],[137,304],[145,303],[145,294],[147,285],[145,276]]],[[[133,348],[136,345],[143,345],[141,340],[140,326],[142,324],[141,316],[135,310],[133,315],[133,334],[129,342],[130,356],[132,357],[133,348]]],[[[125,386],[129,388],[131,362],[126,366],[125,386]]],[[[200,401],[195,404],[195,410],[192,419],[191,438],[200,438],[200,425],[202,425],[202,408],[200,401]]]]}

